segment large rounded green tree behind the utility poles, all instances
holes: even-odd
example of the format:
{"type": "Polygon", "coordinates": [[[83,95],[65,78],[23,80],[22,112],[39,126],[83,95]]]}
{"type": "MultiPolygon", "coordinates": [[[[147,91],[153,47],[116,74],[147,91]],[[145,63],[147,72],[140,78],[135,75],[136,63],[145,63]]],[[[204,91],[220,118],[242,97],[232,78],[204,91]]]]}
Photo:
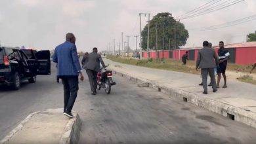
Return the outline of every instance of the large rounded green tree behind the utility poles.
{"type": "MultiPolygon", "coordinates": [[[[148,24],[144,27],[141,32],[142,35],[142,48],[147,48],[148,39],[148,24]]],[[[152,20],[150,20],[150,37],[149,37],[149,48],[155,50],[174,49],[175,43],[175,19],[169,12],[162,12],[156,14],[152,20]],[[156,44],[158,39],[158,44],[156,44]],[[156,45],[158,45],[156,47],[156,45]]],[[[184,24],[176,22],[176,48],[182,45],[186,45],[188,39],[188,31],[185,29],[184,24]]]]}

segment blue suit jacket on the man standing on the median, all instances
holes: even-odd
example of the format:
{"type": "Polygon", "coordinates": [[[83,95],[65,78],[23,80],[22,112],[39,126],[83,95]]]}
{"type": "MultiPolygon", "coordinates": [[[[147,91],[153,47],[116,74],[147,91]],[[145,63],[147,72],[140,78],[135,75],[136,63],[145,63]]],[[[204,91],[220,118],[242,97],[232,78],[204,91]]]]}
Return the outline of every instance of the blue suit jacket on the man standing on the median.
{"type": "Polygon", "coordinates": [[[57,63],[58,76],[78,76],[78,71],[81,71],[76,46],[68,41],[56,46],[53,62],[57,63]]]}

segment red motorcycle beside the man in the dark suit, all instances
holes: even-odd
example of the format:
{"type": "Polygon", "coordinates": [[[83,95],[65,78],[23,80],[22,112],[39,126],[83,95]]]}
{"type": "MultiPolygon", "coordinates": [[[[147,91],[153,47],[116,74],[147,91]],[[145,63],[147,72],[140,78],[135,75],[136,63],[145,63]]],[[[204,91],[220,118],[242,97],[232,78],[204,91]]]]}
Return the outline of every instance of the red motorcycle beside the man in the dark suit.
{"type": "MultiPolygon", "coordinates": [[[[106,65],[108,67],[108,65],[106,65]]],[[[116,82],[112,79],[112,71],[106,70],[103,67],[100,67],[101,72],[97,73],[97,85],[98,90],[104,88],[106,94],[110,94],[111,86],[116,85],[116,82]]]]}

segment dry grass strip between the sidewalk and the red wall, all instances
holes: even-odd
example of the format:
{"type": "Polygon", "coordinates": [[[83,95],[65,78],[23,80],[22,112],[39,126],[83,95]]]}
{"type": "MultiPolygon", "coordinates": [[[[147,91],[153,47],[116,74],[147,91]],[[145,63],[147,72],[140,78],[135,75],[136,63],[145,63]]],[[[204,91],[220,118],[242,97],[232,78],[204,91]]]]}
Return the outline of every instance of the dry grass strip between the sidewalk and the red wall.
{"type": "MultiPolygon", "coordinates": [[[[191,60],[187,61],[186,65],[182,65],[181,60],[171,60],[171,59],[154,60],[152,58],[149,58],[149,59],[138,60],[135,58],[127,58],[127,57],[125,58],[125,57],[117,57],[117,56],[107,56],[107,58],[114,62],[119,62],[119,63],[200,75],[200,70],[196,71],[195,69],[196,62],[191,60]]],[[[238,65],[234,63],[228,63],[227,70],[234,71],[234,72],[249,73],[249,71],[251,70],[251,65],[238,65]]],[[[255,71],[253,71],[253,73],[255,73],[255,71]]],[[[253,77],[251,77],[250,75],[244,75],[242,77],[238,77],[238,80],[242,82],[256,84],[256,80],[253,79],[253,77]]]]}

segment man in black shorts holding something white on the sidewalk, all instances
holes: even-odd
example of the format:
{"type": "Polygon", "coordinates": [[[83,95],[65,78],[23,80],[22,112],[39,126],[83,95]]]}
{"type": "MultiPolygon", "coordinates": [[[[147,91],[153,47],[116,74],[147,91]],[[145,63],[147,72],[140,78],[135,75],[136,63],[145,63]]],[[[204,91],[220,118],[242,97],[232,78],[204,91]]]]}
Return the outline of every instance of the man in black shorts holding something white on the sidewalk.
{"type": "Polygon", "coordinates": [[[219,67],[217,67],[217,88],[219,88],[219,82],[221,81],[221,74],[223,74],[223,79],[224,79],[224,85],[223,88],[227,88],[228,86],[226,85],[226,65],[228,65],[228,60],[230,59],[230,53],[226,48],[224,48],[224,43],[223,41],[219,42],[219,50],[218,50],[218,55],[219,55],[219,67]]]}

